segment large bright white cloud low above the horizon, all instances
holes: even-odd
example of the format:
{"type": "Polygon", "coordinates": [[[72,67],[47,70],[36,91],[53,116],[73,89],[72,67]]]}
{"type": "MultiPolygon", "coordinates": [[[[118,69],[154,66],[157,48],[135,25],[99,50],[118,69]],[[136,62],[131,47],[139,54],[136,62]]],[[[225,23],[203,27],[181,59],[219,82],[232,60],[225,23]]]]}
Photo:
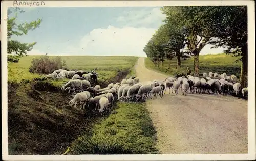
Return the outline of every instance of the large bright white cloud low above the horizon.
{"type": "Polygon", "coordinates": [[[114,26],[94,29],[81,39],[78,47],[68,46],[65,51],[74,55],[146,57],[143,48],[154,32],[151,28],[114,26]]]}

